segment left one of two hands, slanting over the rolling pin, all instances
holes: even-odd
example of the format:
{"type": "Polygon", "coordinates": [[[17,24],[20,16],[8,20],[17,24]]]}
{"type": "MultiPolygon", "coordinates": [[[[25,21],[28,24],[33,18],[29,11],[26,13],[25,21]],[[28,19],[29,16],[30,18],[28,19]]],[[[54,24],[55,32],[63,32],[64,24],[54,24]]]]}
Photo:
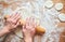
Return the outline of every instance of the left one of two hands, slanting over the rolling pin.
{"type": "Polygon", "coordinates": [[[8,30],[8,31],[12,31],[13,29],[15,29],[20,23],[20,14],[12,14],[10,17],[8,17],[6,22],[5,22],[5,26],[3,29],[8,30]]]}

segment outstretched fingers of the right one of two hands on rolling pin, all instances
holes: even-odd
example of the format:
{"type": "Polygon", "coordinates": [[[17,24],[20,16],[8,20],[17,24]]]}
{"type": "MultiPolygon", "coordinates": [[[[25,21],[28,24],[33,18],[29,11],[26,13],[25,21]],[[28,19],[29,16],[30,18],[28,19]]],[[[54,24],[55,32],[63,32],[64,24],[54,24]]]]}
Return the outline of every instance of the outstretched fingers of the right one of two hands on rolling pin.
{"type": "Polygon", "coordinates": [[[37,26],[37,23],[34,17],[29,17],[26,19],[26,28],[27,29],[35,28],[36,26],[37,26]]]}

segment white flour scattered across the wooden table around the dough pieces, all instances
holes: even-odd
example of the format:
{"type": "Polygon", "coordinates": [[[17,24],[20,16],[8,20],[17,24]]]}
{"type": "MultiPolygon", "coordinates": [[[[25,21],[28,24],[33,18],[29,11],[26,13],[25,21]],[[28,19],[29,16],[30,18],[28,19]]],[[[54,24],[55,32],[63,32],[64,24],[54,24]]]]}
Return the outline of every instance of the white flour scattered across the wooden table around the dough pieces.
{"type": "MultiPolygon", "coordinates": [[[[51,9],[44,8],[46,1],[48,0],[25,1],[21,3],[21,6],[16,8],[16,10],[14,11],[11,9],[11,6],[8,9],[3,9],[3,14],[11,15],[17,12],[21,13],[22,18],[25,20],[27,17],[34,16],[36,20],[39,20],[38,23],[40,24],[40,26],[46,28],[46,33],[42,36],[41,41],[58,42],[60,32],[63,30],[57,27],[57,24],[60,23],[57,15],[60,14],[60,12],[57,12],[54,6],[51,9]]],[[[17,33],[17,36],[20,33],[17,33]]],[[[23,36],[21,37],[23,38],[23,36]]],[[[12,42],[14,42],[14,40],[15,39],[13,39],[12,42]]]]}

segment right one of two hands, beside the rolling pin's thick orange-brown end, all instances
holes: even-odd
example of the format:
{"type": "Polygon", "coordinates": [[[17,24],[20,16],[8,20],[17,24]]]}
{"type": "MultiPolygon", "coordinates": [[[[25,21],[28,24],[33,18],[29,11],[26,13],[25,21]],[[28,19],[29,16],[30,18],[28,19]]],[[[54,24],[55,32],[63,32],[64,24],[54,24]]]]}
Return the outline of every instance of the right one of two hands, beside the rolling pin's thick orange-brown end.
{"type": "Polygon", "coordinates": [[[25,38],[32,38],[36,33],[36,20],[34,17],[26,19],[26,24],[23,26],[23,33],[25,38]]]}

